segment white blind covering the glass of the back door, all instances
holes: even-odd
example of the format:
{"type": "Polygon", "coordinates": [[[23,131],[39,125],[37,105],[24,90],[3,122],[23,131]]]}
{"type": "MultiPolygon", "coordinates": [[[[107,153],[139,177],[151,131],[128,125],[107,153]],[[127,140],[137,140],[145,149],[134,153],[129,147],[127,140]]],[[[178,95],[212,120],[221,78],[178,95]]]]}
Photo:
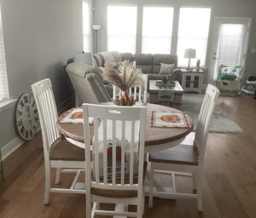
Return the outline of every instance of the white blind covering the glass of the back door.
{"type": "Polygon", "coordinates": [[[247,25],[224,23],[219,28],[218,63],[227,66],[241,65],[247,25]]]}

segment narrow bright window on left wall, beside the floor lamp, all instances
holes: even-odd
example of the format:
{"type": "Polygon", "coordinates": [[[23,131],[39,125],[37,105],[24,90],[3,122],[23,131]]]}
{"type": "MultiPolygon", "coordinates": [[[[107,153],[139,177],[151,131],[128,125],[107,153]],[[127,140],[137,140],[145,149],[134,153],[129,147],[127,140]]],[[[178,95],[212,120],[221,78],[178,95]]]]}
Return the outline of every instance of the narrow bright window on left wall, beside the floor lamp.
{"type": "Polygon", "coordinates": [[[90,52],[90,10],[86,1],[83,1],[83,37],[84,51],[90,52]]]}

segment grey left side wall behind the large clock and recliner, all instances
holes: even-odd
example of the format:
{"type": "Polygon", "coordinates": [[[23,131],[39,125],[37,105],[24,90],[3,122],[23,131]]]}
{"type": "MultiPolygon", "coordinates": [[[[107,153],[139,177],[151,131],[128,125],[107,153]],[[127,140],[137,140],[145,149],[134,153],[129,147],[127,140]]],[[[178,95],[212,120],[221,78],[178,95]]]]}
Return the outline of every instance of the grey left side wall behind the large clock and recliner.
{"type": "MultiPolygon", "coordinates": [[[[65,109],[73,90],[62,66],[83,50],[82,0],[2,0],[1,10],[10,98],[49,77],[65,109]]],[[[14,110],[0,112],[0,147],[16,137],[14,110]]]]}

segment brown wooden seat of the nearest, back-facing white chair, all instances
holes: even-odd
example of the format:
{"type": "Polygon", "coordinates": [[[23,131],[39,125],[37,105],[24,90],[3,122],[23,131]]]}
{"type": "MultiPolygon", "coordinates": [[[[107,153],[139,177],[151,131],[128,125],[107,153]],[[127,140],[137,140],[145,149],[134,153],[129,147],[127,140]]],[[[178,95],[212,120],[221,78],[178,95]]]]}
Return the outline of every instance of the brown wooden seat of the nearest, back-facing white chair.
{"type": "MultiPolygon", "coordinates": [[[[145,179],[148,163],[143,164],[143,181],[145,179]]],[[[111,181],[108,181],[111,182],[111,181]]],[[[117,184],[120,184],[120,180],[116,180],[117,184]]],[[[137,176],[133,178],[133,183],[137,184],[137,176]]],[[[129,178],[125,178],[125,184],[129,184],[129,178]]],[[[107,198],[135,198],[137,197],[137,190],[112,190],[103,188],[90,188],[91,194],[107,197],[107,198]]]]}

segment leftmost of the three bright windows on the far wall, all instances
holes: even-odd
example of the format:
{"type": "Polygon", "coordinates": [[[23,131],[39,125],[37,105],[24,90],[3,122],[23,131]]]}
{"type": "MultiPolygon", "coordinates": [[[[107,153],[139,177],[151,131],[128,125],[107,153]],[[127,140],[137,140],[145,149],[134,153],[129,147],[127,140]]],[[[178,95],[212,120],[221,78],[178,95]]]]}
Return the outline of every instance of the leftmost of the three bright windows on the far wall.
{"type": "Polygon", "coordinates": [[[137,7],[108,6],[108,51],[136,51],[137,7]]]}

